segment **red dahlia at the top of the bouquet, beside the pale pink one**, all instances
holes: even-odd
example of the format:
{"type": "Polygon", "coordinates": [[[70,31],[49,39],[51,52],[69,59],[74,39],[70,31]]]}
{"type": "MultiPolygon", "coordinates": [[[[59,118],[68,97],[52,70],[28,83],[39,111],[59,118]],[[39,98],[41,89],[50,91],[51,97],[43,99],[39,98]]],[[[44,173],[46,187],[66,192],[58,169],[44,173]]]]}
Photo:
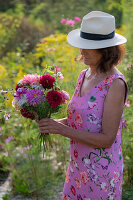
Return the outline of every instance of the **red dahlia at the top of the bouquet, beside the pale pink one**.
{"type": "Polygon", "coordinates": [[[49,74],[43,74],[39,78],[39,83],[42,84],[44,89],[50,89],[53,87],[53,83],[55,82],[55,78],[50,76],[49,74]]]}

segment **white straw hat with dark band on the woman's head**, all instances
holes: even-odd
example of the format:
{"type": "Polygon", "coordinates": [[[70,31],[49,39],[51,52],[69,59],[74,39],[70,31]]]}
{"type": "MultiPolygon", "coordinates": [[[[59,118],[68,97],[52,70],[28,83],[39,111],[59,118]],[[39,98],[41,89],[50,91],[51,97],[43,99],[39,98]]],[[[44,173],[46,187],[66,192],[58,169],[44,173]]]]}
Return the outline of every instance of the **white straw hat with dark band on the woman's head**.
{"type": "Polygon", "coordinates": [[[115,17],[101,11],[92,11],[82,19],[81,28],[67,35],[71,46],[81,49],[101,49],[127,42],[115,33],[115,17]]]}

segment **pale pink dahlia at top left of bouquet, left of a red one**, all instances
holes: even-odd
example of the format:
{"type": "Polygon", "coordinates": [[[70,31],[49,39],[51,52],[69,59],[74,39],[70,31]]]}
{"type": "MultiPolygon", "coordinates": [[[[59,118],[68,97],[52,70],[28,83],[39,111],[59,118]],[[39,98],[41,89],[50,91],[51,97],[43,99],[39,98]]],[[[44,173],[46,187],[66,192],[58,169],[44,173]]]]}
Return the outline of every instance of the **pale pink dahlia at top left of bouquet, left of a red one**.
{"type": "Polygon", "coordinates": [[[24,78],[20,80],[20,82],[22,82],[25,85],[30,85],[32,83],[37,83],[38,79],[39,79],[39,75],[38,74],[27,74],[24,75],[24,78]]]}

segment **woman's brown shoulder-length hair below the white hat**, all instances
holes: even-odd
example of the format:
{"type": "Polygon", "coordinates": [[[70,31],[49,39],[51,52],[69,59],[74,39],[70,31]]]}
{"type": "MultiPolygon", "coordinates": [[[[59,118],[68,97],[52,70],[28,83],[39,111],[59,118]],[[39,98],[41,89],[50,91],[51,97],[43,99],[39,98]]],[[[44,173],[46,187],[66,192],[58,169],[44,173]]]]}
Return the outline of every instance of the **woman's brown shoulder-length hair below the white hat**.
{"type": "MultiPolygon", "coordinates": [[[[100,70],[100,72],[107,72],[112,67],[120,64],[125,57],[125,46],[124,45],[117,45],[113,47],[107,47],[102,49],[97,49],[99,53],[101,53],[102,58],[99,62],[99,65],[97,69],[100,70]]],[[[80,55],[78,58],[78,61],[82,61],[83,57],[80,55]]]]}

